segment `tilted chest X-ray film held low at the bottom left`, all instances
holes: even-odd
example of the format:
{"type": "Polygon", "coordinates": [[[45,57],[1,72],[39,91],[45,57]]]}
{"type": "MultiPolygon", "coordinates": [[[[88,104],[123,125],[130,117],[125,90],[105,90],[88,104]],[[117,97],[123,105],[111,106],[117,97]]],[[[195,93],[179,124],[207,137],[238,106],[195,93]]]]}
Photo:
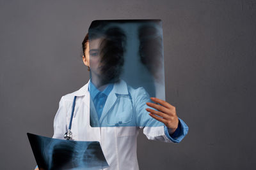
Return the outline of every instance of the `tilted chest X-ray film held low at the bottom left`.
{"type": "Polygon", "coordinates": [[[108,166],[98,141],[68,141],[28,133],[40,170],[96,170],[108,166]]]}

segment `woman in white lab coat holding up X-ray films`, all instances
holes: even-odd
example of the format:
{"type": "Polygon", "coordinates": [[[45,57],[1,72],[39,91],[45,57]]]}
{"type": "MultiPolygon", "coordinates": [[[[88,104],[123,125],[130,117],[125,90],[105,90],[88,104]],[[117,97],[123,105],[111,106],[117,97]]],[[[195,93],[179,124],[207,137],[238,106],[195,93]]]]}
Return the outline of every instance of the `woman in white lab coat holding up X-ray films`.
{"type": "MultiPolygon", "coordinates": [[[[88,34],[86,34],[83,41],[83,62],[90,69],[91,79],[81,89],[61,97],[58,111],[54,117],[54,136],[52,138],[64,139],[70,122],[74,96],[77,96],[72,119],[72,139],[99,141],[109,164],[108,170],[139,169],[136,155],[136,139],[139,129],[143,128],[143,133],[148,139],[179,143],[188,133],[188,126],[177,117],[175,106],[156,97],[150,98],[145,89],[133,89],[124,80],[118,78],[110,83],[104,81],[102,83],[102,73],[99,69],[101,67],[99,57],[101,41],[101,38],[94,38],[90,39],[89,44],[88,34]],[[90,107],[97,105],[97,101],[93,101],[97,97],[97,94],[93,96],[93,88],[98,90],[97,94],[107,95],[100,115],[96,114],[95,117],[90,117],[90,107]],[[132,105],[125,101],[115,105],[118,99],[122,100],[118,96],[131,96],[132,105]],[[150,99],[154,103],[151,103],[150,99]],[[131,114],[111,115],[112,113],[120,114],[116,111],[109,112],[111,108],[118,107],[126,107],[125,112],[129,113],[130,111],[131,114]],[[119,119],[115,119],[115,117],[119,119]],[[113,126],[104,126],[109,123],[108,121],[113,123],[113,126]],[[91,125],[92,122],[96,122],[98,126],[92,127],[90,122],[91,125]]],[[[97,106],[95,109],[96,113],[100,110],[97,106]]]]}

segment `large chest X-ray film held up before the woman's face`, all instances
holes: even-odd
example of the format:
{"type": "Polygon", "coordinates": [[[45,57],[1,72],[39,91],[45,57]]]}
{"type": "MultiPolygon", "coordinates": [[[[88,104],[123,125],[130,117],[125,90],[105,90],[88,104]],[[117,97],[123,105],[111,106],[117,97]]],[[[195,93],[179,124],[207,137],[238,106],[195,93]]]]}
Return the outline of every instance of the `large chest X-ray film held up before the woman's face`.
{"type": "Polygon", "coordinates": [[[161,20],[95,20],[88,34],[90,125],[162,126],[145,110],[165,100],[161,20]]]}

